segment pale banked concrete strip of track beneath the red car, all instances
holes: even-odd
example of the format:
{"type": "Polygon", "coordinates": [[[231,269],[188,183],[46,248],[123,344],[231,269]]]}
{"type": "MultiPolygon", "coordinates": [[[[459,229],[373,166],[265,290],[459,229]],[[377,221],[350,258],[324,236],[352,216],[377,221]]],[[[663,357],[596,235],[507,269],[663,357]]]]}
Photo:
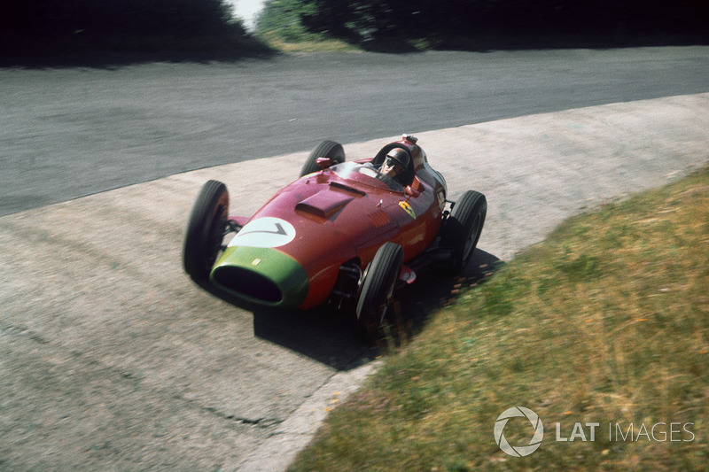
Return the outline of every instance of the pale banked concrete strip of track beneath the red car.
{"type": "MultiPolygon", "coordinates": [[[[486,228],[467,268],[510,259],[566,217],[709,159],[709,94],[537,114],[418,135],[450,197],[479,190],[486,228]]],[[[401,131],[408,131],[402,129],[401,131]]],[[[328,137],[328,136],[323,136],[328,137]]],[[[345,143],[372,155],[396,136],[345,143]]],[[[307,152],[253,159],[0,219],[0,468],[278,470],[328,407],[376,368],[329,308],[249,313],[181,268],[207,179],[250,214],[307,152]]],[[[403,305],[433,311],[417,286],[403,305]],[[408,303],[408,305],[407,305],[408,303]]],[[[474,316],[475,313],[471,313],[474,316]]]]}

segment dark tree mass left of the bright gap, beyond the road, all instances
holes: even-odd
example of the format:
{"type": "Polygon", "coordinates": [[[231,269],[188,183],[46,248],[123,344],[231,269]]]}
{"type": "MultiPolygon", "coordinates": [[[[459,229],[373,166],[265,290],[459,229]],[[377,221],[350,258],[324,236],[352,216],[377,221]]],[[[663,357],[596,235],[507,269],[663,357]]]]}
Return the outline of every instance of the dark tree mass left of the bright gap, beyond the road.
{"type": "Polygon", "coordinates": [[[0,56],[238,52],[256,42],[222,0],[3,0],[0,56]]]}

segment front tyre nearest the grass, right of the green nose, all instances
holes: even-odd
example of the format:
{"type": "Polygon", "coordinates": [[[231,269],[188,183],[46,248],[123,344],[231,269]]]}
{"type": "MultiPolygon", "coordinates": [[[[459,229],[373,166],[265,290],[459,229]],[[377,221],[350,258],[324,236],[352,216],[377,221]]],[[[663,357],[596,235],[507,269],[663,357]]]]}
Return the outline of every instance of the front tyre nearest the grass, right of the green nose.
{"type": "Polygon", "coordinates": [[[393,291],[403,263],[401,246],[387,242],[367,267],[356,313],[362,335],[371,341],[381,334],[384,325],[393,324],[393,291]]]}

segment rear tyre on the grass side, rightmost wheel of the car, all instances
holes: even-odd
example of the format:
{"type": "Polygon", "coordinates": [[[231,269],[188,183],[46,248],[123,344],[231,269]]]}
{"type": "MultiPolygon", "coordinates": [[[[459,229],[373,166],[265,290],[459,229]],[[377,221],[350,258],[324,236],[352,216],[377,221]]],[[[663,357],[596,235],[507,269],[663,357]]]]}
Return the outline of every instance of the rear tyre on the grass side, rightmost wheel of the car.
{"type": "Polygon", "coordinates": [[[460,273],[470,262],[486,216],[487,199],[473,190],[466,191],[453,206],[441,237],[441,245],[453,250],[448,260],[452,274],[460,273]]]}

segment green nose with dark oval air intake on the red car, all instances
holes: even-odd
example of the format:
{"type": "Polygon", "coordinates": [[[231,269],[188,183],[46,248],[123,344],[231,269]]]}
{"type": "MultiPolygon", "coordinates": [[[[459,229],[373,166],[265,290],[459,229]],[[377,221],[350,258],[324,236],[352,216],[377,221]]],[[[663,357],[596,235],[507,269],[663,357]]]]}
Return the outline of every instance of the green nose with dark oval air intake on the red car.
{"type": "Polygon", "coordinates": [[[210,280],[249,303],[295,308],[308,296],[308,274],[297,260],[272,248],[228,247],[210,280]]]}

